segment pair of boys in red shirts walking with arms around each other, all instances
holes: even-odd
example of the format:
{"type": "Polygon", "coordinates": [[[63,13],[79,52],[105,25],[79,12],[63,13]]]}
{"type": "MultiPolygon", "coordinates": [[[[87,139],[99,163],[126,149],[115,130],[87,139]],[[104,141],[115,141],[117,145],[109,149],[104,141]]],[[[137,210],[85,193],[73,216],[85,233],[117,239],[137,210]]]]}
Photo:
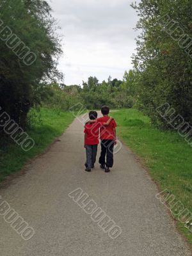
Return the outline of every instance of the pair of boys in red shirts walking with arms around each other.
{"type": "Polygon", "coordinates": [[[116,145],[116,122],[109,117],[109,108],[101,108],[102,117],[97,118],[96,111],[90,111],[90,120],[84,127],[84,147],[86,148],[86,172],[91,172],[97,157],[99,134],[101,140],[100,168],[110,172],[113,167],[113,148],[116,145]]]}

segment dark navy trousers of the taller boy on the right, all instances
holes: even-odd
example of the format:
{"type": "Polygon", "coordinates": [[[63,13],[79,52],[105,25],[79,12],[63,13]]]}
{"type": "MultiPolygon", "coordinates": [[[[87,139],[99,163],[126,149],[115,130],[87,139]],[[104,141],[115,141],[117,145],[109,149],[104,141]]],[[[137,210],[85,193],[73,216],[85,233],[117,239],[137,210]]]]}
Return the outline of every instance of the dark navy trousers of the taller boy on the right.
{"type": "Polygon", "coordinates": [[[99,163],[107,167],[113,167],[113,148],[114,141],[113,140],[102,140],[101,141],[101,153],[99,158],[99,163]]]}

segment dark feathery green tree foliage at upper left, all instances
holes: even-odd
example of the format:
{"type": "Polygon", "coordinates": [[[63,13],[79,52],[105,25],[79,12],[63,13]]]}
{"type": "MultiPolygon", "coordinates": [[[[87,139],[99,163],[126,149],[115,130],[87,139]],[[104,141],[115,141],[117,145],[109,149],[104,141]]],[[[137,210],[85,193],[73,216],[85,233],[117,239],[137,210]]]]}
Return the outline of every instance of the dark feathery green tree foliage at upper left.
{"type": "Polygon", "coordinates": [[[40,101],[40,94],[36,93],[42,88],[40,83],[62,78],[56,68],[62,53],[60,36],[55,32],[51,8],[44,0],[2,0],[0,10],[2,26],[8,26],[36,55],[36,61],[26,65],[0,40],[0,106],[24,126],[29,109],[40,101]]]}

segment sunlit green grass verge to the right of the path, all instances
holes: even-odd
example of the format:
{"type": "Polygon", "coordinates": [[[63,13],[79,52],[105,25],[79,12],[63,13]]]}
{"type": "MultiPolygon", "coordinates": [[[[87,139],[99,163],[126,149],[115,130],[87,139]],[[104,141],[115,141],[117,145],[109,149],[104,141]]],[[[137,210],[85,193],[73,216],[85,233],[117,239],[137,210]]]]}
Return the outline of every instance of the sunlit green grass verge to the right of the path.
{"type": "MultiPolygon", "coordinates": [[[[161,190],[168,189],[192,212],[192,148],[177,132],[161,131],[136,109],[113,112],[118,136],[141,157],[161,190]]],[[[191,220],[192,221],[192,220],[191,220]]],[[[192,244],[192,234],[177,223],[192,244]]]]}

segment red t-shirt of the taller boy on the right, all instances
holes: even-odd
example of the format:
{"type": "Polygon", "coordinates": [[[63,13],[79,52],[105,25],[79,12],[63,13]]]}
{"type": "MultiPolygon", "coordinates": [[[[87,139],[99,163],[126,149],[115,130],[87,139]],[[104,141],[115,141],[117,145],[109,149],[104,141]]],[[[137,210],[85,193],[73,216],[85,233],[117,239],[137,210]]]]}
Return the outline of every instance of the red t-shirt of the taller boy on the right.
{"type": "MultiPolygon", "coordinates": [[[[97,118],[97,122],[103,122],[106,123],[109,120],[109,116],[103,116],[100,118],[97,118]]],[[[108,126],[102,126],[100,128],[100,140],[115,140],[115,132],[113,129],[116,128],[116,122],[115,120],[111,120],[110,124],[108,126]]]]}

